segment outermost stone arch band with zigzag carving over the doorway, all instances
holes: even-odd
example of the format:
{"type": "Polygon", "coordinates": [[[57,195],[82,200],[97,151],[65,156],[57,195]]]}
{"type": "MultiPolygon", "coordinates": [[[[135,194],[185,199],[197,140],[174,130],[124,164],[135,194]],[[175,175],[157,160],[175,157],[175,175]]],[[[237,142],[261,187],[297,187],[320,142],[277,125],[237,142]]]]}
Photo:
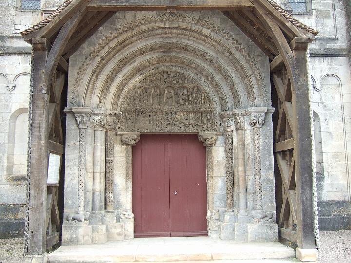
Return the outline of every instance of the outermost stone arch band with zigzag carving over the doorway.
{"type": "MultiPolygon", "coordinates": [[[[75,101],[75,99],[71,100],[71,104],[81,104],[81,105],[88,105],[89,99],[90,99],[90,94],[92,94],[92,91],[89,89],[88,83],[84,84],[81,83],[82,79],[87,79],[86,76],[89,76],[93,72],[96,74],[99,74],[98,68],[103,68],[106,65],[106,59],[107,57],[112,58],[113,56],[110,54],[114,48],[118,45],[123,45],[124,43],[127,42],[128,35],[132,33],[139,32],[145,33],[144,31],[147,31],[147,27],[156,27],[156,23],[164,27],[166,30],[165,24],[168,23],[169,25],[172,25],[173,21],[176,21],[174,23],[174,27],[178,27],[181,23],[184,23],[185,25],[188,25],[188,29],[191,29],[192,33],[196,34],[202,34],[202,36],[206,37],[206,42],[211,42],[214,41],[216,43],[216,48],[217,49],[222,49],[222,53],[225,54],[226,56],[231,55],[234,57],[235,61],[234,62],[239,62],[239,63],[234,63],[235,65],[239,65],[241,67],[241,76],[242,80],[245,84],[245,88],[250,88],[252,90],[252,95],[251,97],[254,99],[254,101],[249,104],[249,106],[253,106],[256,104],[266,104],[269,103],[270,101],[270,94],[269,91],[265,91],[265,81],[262,77],[262,74],[260,73],[256,62],[253,57],[251,57],[246,51],[245,48],[243,48],[236,39],[233,38],[228,33],[225,33],[222,29],[219,29],[217,27],[214,27],[213,25],[208,24],[207,22],[203,21],[198,21],[195,19],[185,19],[184,15],[178,16],[176,18],[170,18],[170,17],[162,17],[160,19],[159,17],[149,17],[149,18],[144,18],[142,19],[142,22],[138,21],[132,22],[130,25],[126,25],[125,28],[117,30],[114,34],[111,35],[109,38],[105,38],[101,40],[101,43],[98,44],[98,46],[94,49],[92,54],[89,54],[89,56],[86,57],[86,60],[83,62],[82,67],[79,68],[79,72],[77,73],[76,76],[76,84],[73,89],[73,93],[71,97],[75,97],[78,94],[80,94],[80,102],[75,101]],[[191,23],[191,25],[189,25],[191,23]],[[197,29],[198,28],[198,29],[197,29]],[[118,32],[119,31],[119,32],[118,32]],[[128,33],[127,33],[128,32],[128,33]],[[123,41],[122,41],[123,40],[123,41]],[[227,45],[224,45],[223,43],[226,42],[227,45]],[[228,48],[229,47],[229,48],[228,48]],[[227,54],[228,53],[228,54],[227,54]],[[104,59],[101,59],[103,57],[104,59]],[[240,60],[238,60],[238,58],[240,60]],[[105,62],[101,63],[102,60],[106,60],[105,62]],[[105,64],[105,65],[102,65],[105,64]],[[85,77],[84,77],[85,76],[85,77]],[[83,88],[84,87],[84,88],[83,88]],[[80,91],[79,91],[80,89],[80,91]],[[84,91],[82,90],[84,89],[84,91]],[[86,89],[86,90],[85,90],[86,89]],[[256,89],[256,91],[254,91],[256,89]],[[259,91],[258,91],[259,89],[259,91]],[[256,95],[255,95],[256,93],[256,95]],[[256,102],[256,96],[258,97],[259,94],[263,95],[263,100],[266,100],[265,102],[256,102]],[[84,98],[83,98],[84,96],[84,98]],[[265,99],[266,98],[266,99],[265,99]]],[[[162,27],[158,28],[157,30],[162,30],[162,27]]],[[[133,34],[136,35],[136,34],[133,34]]],[[[138,34],[137,34],[138,35],[138,34]]],[[[189,35],[189,34],[188,34],[189,35]]],[[[196,35],[197,38],[199,38],[198,35],[196,35]]],[[[135,42],[135,41],[134,41],[135,42]]],[[[89,81],[93,80],[96,81],[98,79],[99,75],[92,75],[91,78],[89,78],[89,81]]]]}

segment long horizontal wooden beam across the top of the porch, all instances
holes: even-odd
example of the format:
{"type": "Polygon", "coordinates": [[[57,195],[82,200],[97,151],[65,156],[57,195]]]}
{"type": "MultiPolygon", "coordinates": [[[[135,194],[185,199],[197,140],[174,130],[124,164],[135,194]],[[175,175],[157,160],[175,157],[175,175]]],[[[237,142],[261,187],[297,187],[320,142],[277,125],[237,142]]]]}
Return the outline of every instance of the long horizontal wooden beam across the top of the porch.
{"type": "Polygon", "coordinates": [[[176,11],[252,9],[250,0],[92,0],[89,11],[176,11]]]}

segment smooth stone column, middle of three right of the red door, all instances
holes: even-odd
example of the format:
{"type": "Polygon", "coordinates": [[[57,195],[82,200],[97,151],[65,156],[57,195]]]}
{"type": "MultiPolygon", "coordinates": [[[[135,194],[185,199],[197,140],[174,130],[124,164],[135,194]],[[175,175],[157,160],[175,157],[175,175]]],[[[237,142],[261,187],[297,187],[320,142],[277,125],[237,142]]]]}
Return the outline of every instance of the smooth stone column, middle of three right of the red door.
{"type": "MultiPolygon", "coordinates": [[[[245,110],[234,110],[234,125],[236,131],[236,167],[235,167],[235,180],[238,184],[238,219],[244,217],[247,219],[247,197],[246,197],[246,169],[245,169],[245,110]]],[[[239,220],[240,221],[240,220],[239,220]]]]}

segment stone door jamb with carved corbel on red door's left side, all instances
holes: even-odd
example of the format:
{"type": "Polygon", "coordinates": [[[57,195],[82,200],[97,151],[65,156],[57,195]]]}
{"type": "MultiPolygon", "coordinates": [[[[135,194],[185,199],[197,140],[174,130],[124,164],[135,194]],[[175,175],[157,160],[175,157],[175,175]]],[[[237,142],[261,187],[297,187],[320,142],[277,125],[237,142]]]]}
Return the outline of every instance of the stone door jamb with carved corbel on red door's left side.
{"type": "Polygon", "coordinates": [[[127,133],[121,137],[122,145],[126,146],[126,206],[120,215],[124,222],[124,239],[134,237],[134,214],[132,212],[132,147],[140,140],[140,133],[127,133]]]}

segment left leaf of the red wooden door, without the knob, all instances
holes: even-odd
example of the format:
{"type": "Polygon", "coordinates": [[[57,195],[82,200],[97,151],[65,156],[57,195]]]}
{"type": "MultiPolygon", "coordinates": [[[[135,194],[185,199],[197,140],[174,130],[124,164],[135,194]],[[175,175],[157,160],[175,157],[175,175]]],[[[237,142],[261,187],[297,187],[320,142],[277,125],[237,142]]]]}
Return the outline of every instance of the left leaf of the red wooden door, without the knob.
{"type": "Polygon", "coordinates": [[[142,134],[133,147],[134,235],[170,236],[168,135],[142,134]]]}

